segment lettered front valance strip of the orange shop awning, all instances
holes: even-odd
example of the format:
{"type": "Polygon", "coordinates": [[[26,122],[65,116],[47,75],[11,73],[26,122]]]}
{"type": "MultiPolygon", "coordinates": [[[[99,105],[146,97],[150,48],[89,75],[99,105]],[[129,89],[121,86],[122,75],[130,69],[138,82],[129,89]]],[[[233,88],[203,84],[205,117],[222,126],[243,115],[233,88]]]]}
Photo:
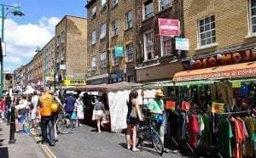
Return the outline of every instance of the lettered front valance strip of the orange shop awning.
{"type": "Polygon", "coordinates": [[[180,76],[177,77],[177,81],[191,81],[191,80],[207,80],[207,79],[221,79],[233,76],[254,76],[256,75],[256,68],[248,68],[236,71],[223,71],[223,72],[212,72],[208,74],[191,75],[191,76],[180,76]]]}

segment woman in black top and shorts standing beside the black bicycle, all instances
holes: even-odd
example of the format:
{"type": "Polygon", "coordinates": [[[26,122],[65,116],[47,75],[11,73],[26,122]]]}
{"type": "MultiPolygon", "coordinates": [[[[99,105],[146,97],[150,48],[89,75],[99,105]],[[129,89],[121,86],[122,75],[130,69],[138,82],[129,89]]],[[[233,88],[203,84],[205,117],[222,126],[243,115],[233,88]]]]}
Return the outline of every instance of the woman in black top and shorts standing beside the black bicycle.
{"type": "Polygon", "coordinates": [[[132,151],[139,151],[136,148],[137,144],[137,124],[143,121],[142,110],[137,102],[138,93],[132,90],[129,94],[127,102],[128,113],[126,116],[127,130],[126,130],[126,144],[127,149],[132,151]],[[131,140],[132,138],[132,140],[131,140]],[[131,149],[132,146],[132,149],[131,149]]]}

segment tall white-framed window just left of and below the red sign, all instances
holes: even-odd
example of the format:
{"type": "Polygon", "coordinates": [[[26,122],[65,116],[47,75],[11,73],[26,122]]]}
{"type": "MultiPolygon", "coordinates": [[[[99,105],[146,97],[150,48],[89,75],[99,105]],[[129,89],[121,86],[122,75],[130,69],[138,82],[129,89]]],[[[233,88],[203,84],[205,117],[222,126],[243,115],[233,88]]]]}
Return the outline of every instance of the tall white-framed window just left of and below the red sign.
{"type": "Polygon", "coordinates": [[[153,59],[154,58],[154,35],[153,31],[148,31],[144,34],[144,60],[153,59]]]}

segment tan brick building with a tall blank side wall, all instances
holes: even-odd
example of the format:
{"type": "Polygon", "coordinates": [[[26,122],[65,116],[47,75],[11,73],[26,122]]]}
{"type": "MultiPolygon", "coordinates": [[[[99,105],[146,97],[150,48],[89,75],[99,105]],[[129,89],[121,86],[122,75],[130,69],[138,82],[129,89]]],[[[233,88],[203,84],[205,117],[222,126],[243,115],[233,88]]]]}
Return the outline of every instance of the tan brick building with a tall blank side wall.
{"type": "Polygon", "coordinates": [[[85,80],[87,70],[87,20],[66,15],[55,26],[55,77],[85,80]]]}

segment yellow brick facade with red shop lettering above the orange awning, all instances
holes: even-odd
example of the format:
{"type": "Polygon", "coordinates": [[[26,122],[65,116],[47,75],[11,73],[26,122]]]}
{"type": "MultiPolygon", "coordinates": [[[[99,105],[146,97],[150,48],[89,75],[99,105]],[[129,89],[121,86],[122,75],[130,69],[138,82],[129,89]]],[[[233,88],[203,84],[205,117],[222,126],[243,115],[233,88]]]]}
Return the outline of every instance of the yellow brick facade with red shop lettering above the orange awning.
{"type": "Polygon", "coordinates": [[[255,9],[255,0],[184,1],[184,30],[190,45],[185,68],[256,60],[255,9]]]}

